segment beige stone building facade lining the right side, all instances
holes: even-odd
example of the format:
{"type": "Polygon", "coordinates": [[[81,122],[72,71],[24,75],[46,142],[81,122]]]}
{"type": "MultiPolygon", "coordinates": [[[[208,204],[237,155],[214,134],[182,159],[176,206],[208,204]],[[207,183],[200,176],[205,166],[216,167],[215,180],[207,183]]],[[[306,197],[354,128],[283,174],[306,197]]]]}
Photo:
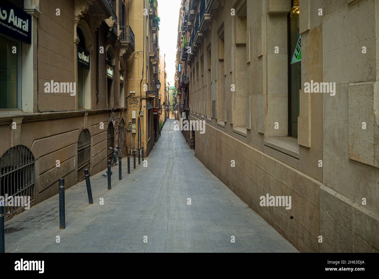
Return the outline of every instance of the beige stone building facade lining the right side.
{"type": "Polygon", "coordinates": [[[196,157],[303,252],[379,251],[378,5],[182,2],[196,157]]]}

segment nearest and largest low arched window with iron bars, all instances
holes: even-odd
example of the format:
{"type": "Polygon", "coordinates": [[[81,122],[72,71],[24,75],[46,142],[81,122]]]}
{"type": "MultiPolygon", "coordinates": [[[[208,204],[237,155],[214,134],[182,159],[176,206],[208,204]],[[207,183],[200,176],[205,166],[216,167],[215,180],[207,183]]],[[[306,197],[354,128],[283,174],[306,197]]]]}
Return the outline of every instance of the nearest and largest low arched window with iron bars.
{"type": "Polygon", "coordinates": [[[34,156],[23,145],[8,149],[0,158],[0,196],[5,195],[13,197],[13,205],[4,209],[6,220],[34,202],[34,156]]]}

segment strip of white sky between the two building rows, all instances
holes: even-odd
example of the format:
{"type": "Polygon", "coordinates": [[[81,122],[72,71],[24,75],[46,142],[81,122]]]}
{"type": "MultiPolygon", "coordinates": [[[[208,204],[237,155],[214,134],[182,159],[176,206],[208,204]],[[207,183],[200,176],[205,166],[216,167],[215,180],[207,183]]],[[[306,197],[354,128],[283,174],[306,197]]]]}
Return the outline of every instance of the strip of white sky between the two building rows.
{"type": "Polygon", "coordinates": [[[162,59],[166,54],[167,81],[170,86],[174,86],[180,1],[158,0],[158,16],[161,18],[159,24],[159,48],[162,59]]]}

